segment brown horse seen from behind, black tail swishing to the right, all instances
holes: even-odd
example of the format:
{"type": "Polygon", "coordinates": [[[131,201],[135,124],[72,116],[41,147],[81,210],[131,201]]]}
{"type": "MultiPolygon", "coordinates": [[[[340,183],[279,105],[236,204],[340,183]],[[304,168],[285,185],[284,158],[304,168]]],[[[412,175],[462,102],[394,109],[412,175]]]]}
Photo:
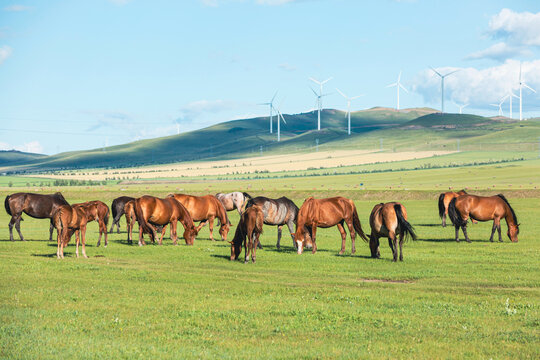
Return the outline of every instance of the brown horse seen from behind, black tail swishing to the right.
{"type": "Polygon", "coordinates": [[[372,258],[380,258],[379,238],[387,237],[388,245],[394,255],[393,261],[397,261],[398,235],[399,235],[399,261],[403,261],[403,240],[407,236],[416,240],[416,234],[412,225],[407,221],[407,210],[398,202],[380,203],[375,205],[369,216],[371,235],[369,236],[369,248],[372,258]]]}

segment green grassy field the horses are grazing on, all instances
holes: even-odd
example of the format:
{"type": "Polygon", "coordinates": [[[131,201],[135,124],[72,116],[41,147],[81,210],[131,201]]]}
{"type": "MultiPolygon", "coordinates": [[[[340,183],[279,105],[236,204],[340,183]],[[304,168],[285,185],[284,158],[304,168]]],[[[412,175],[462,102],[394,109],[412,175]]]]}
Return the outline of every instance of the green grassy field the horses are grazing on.
{"type": "MultiPolygon", "coordinates": [[[[192,247],[167,240],[140,248],[114,233],[107,248],[96,248],[92,223],[90,258],[76,259],[70,245],[59,261],[56,244],[46,241],[47,221],[25,217],[29,241],[12,243],[2,211],[0,357],[537,359],[539,169],[530,160],[361,176],[59,188],[70,202],[109,204],[120,195],[179,191],[249,189],[290,196],[298,205],[310,194],[344,194],[355,199],[368,233],[371,208],[401,200],[419,240],[408,242],[405,261],[395,264],[384,241],[379,260],[369,258],[361,240],[356,255],[348,240],[339,256],[337,229],[321,229],[319,252],[299,256],[286,231],[278,251],[276,229],[265,226],[265,248],[256,264],[245,265],[230,262],[229,245],[209,241],[207,228],[192,247]],[[440,227],[437,193],[473,183],[478,192],[507,194],[521,223],[518,243],[506,236],[489,243],[491,223],[469,226],[471,244],[454,242],[453,228],[440,227]]],[[[4,187],[0,196],[20,190],[4,187]]],[[[236,224],[238,215],[229,214],[236,224]]]]}

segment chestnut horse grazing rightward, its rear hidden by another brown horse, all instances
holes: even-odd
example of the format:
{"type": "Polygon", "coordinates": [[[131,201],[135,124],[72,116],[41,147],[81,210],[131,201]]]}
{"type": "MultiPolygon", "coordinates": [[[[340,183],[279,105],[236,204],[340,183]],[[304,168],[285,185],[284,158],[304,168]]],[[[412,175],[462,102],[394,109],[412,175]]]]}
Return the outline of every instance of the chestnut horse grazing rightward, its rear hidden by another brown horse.
{"type": "Polygon", "coordinates": [[[227,234],[230,230],[230,222],[227,217],[227,211],[223,204],[213,195],[193,196],[185,194],[170,194],[189,211],[194,221],[200,221],[197,227],[197,233],[208,223],[210,228],[210,239],[214,241],[214,219],[217,217],[220,222],[219,235],[221,240],[227,240],[227,234]]]}

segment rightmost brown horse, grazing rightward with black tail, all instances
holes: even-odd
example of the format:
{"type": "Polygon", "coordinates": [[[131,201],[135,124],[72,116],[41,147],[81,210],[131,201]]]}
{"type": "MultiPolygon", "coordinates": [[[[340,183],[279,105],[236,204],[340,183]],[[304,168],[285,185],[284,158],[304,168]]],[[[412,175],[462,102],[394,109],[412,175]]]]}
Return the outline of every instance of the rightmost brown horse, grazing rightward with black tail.
{"type": "Polygon", "coordinates": [[[489,237],[489,241],[491,242],[493,242],[495,229],[498,230],[499,241],[502,242],[501,219],[504,218],[506,220],[506,225],[508,226],[508,232],[506,233],[508,238],[510,238],[512,242],[518,241],[519,224],[516,213],[502,194],[494,196],[461,195],[452,199],[450,202],[450,205],[448,206],[448,215],[456,229],[456,241],[458,242],[460,227],[465,235],[465,240],[471,242],[467,236],[467,220],[469,218],[477,221],[493,220],[491,236],[489,237]]]}

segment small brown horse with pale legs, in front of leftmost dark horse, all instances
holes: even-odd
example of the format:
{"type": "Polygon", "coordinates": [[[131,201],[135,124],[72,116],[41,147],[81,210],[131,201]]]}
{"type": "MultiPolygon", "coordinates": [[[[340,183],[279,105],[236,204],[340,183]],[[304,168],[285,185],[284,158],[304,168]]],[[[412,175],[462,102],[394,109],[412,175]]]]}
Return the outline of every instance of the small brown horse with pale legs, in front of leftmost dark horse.
{"type": "Polygon", "coordinates": [[[64,258],[64,247],[67,246],[73,232],[77,239],[76,254],[79,257],[79,240],[82,240],[83,256],[86,256],[86,213],[81,206],[69,206],[60,205],[54,212],[52,222],[56,227],[58,234],[58,249],[56,250],[56,257],[59,259],[64,258]],[[80,238],[79,238],[80,235],[80,238]]]}

